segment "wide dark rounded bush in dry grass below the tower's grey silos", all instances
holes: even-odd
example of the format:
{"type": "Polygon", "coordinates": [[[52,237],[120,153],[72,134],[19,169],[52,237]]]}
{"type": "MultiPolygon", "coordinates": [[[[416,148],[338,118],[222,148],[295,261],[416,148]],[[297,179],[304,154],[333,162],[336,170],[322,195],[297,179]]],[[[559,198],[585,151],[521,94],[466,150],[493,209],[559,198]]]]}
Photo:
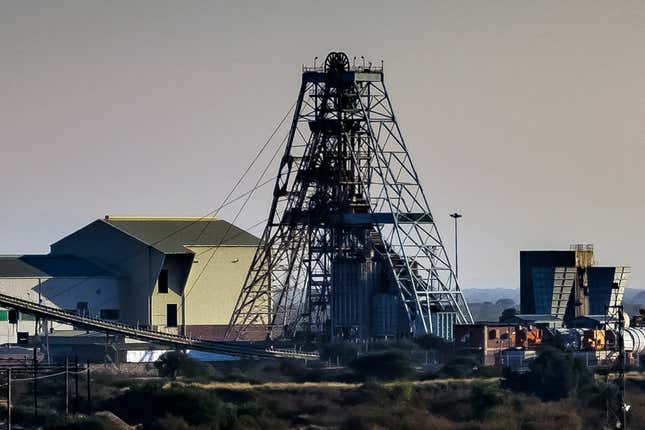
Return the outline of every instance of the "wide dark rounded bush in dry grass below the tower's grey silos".
{"type": "Polygon", "coordinates": [[[412,374],[410,359],[397,351],[369,354],[349,363],[360,378],[398,379],[412,374]]]}

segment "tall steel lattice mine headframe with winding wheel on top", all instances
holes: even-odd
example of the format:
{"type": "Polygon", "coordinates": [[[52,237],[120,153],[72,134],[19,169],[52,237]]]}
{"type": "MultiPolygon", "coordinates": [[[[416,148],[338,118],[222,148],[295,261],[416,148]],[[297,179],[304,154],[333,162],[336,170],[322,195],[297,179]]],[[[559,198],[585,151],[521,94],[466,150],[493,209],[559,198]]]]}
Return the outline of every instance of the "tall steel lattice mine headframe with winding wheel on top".
{"type": "Polygon", "coordinates": [[[355,290],[376,283],[365,294],[392,294],[408,335],[435,333],[433,313],[472,322],[382,66],[355,67],[332,52],[322,67],[303,68],[269,220],[227,337],[369,337],[369,315],[350,315],[355,329],[338,321],[360,303],[372,309],[355,290]]]}

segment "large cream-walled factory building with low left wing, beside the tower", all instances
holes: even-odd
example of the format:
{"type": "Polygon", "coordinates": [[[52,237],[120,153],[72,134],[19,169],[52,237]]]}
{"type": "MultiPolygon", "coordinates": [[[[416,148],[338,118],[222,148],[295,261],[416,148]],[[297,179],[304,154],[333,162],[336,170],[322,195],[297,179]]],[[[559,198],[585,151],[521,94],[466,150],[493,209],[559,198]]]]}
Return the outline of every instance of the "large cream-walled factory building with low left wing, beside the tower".
{"type": "Polygon", "coordinates": [[[0,289],[93,317],[222,339],[258,241],[215,218],[106,216],[52,244],[48,255],[0,258],[0,289]]]}

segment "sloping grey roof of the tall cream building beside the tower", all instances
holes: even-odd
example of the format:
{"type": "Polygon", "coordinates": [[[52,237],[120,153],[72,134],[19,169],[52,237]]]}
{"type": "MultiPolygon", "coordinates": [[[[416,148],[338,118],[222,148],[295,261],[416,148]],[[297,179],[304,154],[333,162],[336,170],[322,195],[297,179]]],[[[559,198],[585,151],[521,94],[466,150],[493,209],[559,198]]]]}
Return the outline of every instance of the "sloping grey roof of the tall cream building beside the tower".
{"type": "Polygon", "coordinates": [[[114,217],[111,226],[166,254],[187,254],[186,246],[257,246],[260,239],[217,218],[114,217]]]}

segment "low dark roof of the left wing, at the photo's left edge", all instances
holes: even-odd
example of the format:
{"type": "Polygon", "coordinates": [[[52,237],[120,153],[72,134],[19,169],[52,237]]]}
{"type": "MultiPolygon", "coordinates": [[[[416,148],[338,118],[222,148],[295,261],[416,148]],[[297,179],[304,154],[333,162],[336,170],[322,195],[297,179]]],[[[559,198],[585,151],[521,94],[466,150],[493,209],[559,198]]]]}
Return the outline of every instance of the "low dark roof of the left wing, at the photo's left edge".
{"type": "Polygon", "coordinates": [[[0,256],[1,278],[113,276],[87,260],[67,255],[0,256]]]}

